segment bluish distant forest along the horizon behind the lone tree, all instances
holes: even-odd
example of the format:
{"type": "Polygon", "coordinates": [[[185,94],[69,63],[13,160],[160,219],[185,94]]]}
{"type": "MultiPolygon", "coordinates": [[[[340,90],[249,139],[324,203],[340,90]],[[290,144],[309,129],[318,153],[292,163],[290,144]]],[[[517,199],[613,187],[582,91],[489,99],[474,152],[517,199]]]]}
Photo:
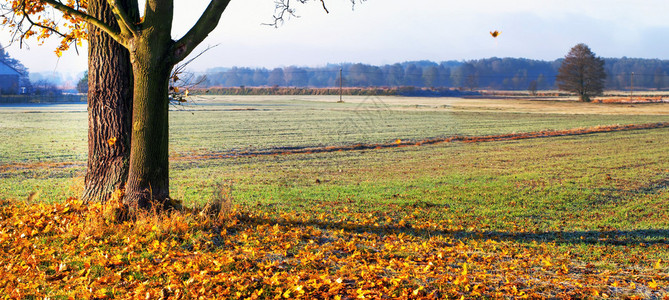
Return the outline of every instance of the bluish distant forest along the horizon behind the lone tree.
{"type": "MultiPolygon", "coordinates": [[[[669,60],[605,58],[609,90],[669,89],[669,60]]],[[[215,68],[206,72],[206,87],[344,87],[459,88],[462,90],[556,89],[562,59],[487,58],[470,61],[413,61],[392,65],[327,65],[319,68],[215,68]]]]}

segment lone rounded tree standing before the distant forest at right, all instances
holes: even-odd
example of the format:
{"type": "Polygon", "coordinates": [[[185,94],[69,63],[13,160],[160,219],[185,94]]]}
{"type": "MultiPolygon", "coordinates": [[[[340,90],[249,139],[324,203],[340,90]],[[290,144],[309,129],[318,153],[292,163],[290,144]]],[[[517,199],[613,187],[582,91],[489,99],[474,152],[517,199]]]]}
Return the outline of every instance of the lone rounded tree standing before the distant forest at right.
{"type": "Polygon", "coordinates": [[[560,90],[577,93],[583,102],[599,95],[604,90],[606,72],[604,60],[595,56],[585,44],[571,48],[556,77],[560,90]]]}

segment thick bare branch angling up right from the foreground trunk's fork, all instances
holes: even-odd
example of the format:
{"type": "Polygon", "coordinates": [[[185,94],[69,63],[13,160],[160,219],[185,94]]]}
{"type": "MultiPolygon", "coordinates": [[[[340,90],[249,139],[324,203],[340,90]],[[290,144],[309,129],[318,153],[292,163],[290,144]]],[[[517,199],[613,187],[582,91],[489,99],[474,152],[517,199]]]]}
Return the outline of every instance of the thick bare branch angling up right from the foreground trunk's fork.
{"type": "Polygon", "coordinates": [[[172,63],[188,56],[218,25],[221,15],[231,0],[211,0],[200,19],[181,39],[172,45],[172,63]]]}

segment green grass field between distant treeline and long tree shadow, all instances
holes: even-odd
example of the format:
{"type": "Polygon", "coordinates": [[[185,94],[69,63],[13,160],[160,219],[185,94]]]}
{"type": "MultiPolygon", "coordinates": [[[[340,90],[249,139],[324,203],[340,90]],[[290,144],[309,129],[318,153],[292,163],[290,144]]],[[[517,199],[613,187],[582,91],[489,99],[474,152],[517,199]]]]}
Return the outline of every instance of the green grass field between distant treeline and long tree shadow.
{"type": "MultiPolygon", "coordinates": [[[[607,106],[618,109],[615,105],[599,105],[599,114],[574,113],[581,105],[577,102],[557,103],[562,109],[557,114],[514,109],[487,112],[452,103],[439,106],[438,99],[421,98],[359,97],[344,104],[318,101],[327,97],[256,98],[204,99],[172,112],[174,197],[206,201],[215,183],[232,181],[240,203],[276,202],[290,209],[292,202],[350,198],[361,207],[423,201],[494,216],[515,202],[519,208],[542,211],[530,215],[538,229],[547,229],[557,226],[550,220],[579,211],[581,204],[587,204],[582,201],[616,210],[622,209],[621,204],[637,202],[630,197],[666,196],[634,191],[662,192],[667,185],[667,129],[346,153],[190,158],[280,147],[662,122],[669,121],[666,104],[654,105],[657,113],[665,114],[621,115],[608,113],[607,106]],[[315,184],[316,179],[323,184],[315,184]],[[554,211],[546,210],[547,203],[552,203],[554,211]]],[[[473,101],[485,105],[485,101],[473,101]]],[[[497,102],[488,101],[491,107],[497,102]]],[[[516,107],[529,105],[537,111],[555,110],[543,102],[524,101],[516,107]]],[[[0,109],[0,197],[25,199],[35,191],[40,191],[43,201],[76,197],[85,171],[85,106],[17,110],[0,109]]],[[[619,213],[601,215],[614,224],[630,223],[619,213]]],[[[613,225],[592,217],[579,216],[575,225],[594,222],[591,229],[613,225]]],[[[662,226],[668,224],[661,216],[653,219],[662,226]]]]}

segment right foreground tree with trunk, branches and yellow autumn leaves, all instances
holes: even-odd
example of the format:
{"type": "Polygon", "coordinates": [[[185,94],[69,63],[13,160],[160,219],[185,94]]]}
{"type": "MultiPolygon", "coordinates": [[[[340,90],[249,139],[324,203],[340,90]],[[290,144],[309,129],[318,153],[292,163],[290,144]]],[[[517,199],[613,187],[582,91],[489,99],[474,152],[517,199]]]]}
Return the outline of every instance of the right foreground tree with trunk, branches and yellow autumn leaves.
{"type": "MultiPolygon", "coordinates": [[[[308,1],[299,0],[300,3],[308,1]]],[[[320,2],[327,11],[324,1],[320,2]]],[[[133,100],[129,169],[123,201],[130,207],[139,208],[149,208],[153,202],[166,205],[170,203],[168,87],[171,71],[216,28],[230,0],[211,0],[195,25],[178,40],[171,37],[173,0],[146,0],[141,17],[137,0],[128,0],[127,3],[107,0],[105,3],[109,5],[117,26],[88,11],[87,1],[13,0],[11,8],[14,17],[8,18],[7,14],[3,17],[6,23],[15,26],[14,30],[21,31],[21,38],[35,35],[34,27],[42,32],[39,37],[52,32],[60,35],[62,41],[57,54],[84,38],[79,29],[82,22],[106,33],[128,50],[133,74],[133,100]],[[62,18],[67,21],[64,27],[69,32],[59,32],[50,15],[42,18],[51,11],[47,8],[62,13],[62,18]],[[34,18],[35,15],[38,17],[34,18]],[[24,26],[27,29],[23,30],[24,26]]],[[[352,3],[355,1],[352,0],[352,3]]],[[[276,8],[275,25],[283,20],[286,13],[294,14],[289,0],[278,1],[276,8]]],[[[114,147],[117,141],[119,137],[112,136],[107,144],[114,147]]]]}

